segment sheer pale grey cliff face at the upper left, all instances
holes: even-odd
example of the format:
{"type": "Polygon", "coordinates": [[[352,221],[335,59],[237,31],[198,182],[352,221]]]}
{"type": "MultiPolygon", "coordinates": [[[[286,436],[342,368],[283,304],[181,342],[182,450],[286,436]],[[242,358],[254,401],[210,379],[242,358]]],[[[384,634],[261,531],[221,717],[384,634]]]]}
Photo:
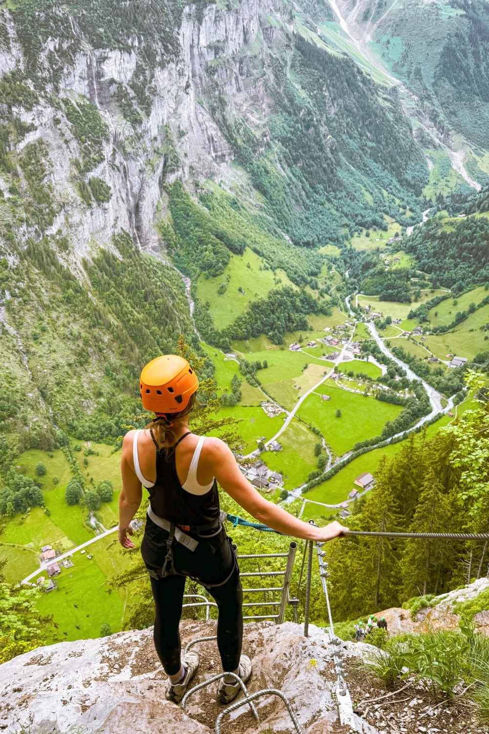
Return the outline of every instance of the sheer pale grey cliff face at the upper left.
{"type": "MultiPolygon", "coordinates": [[[[35,126],[18,143],[16,151],[37,139],[48,145],[48,181],[54,186],[58,213],[47,234],[59,229],[67,234],[74,246],[73,270],[82,257],[90,256],[93,244],[105,247],[121,228],[132,233],[141,247],[155,244],[154,220],[163,193],[161,175],[169,137],[179,163],[175,170],[165,172],[165,183],[177,177],[233,177],[229,167],[232,150],[210,112],[209,101],[221,95],[227,99],[229,115],[240,115],[261,132],[268,101],[260,76],[267,62],[267,43],[276,47],[286,24],[281,12],[282,6],[275,7],[273,0],[240,0],[227,9],[210,4],[199,13],[194,6],[186,6],[177,29],[180,54],[153,70],[150,109],[141,112],[141,125],[136,128],[122,115],[117,84],[137,108],[128,87],[137,81],[137,54],[92,48],[90,38],[82,39],[81,51],[66,66],[56,97],[69,98],[76,104],[79,95],[84,95],[98,108],[109,128],[109,139],[102,145],[103,161],[84,175],[86,182],[90,176],[97,176],[109,184],[112,196],[108,203],[94,202],[87,208],[82,202],[73,183],[73,160],[81,158],[81,148],[59,109],[41,97],[34,109],[15,110],[25,123],[35,126]],[[270,12],[275,17],[274,29],[268,27],[270,12]]],[[[26,65],[17,30],[8,15],[7,21],[10,49],[0,51],[0,75],[26,65]]],[[[47,64],[51,45],[48,43],[40,52],[47,64]]],[[[45,91],[50,91],[49,85],[45,91]]],[[[0,188],[8,196],[8,184],[1,173],[0,188]]],[[[27,228],[21,233],[23,239],[30,235],[27,228]]]]}

